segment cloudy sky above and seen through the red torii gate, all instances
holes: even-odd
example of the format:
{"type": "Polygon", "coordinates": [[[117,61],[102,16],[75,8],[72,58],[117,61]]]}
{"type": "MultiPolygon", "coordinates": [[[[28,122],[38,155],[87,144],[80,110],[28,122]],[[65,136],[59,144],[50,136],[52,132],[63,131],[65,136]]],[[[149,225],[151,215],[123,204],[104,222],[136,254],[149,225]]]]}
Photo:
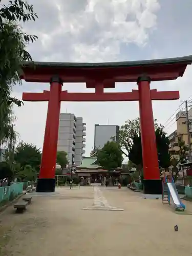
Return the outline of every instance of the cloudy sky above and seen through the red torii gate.
{"type": "MultiPolygon", "coordinates": [[[[6,3],[3,0],[1,4],[6,3]]],[[[22,24],[38,40],[27,46],[34,61],[131,61],[191,55],[191,0],[29,0],[38,14],[22,24]]],[[[153,113],[167,133],[176,129],[172,115],[183,100],[192,98],[192,66],[182,78],[152,82],[151,88],[180,91],[180,99],[154,101],[153,113]],[[170,118],[171,117],[171,118],[170,118]],[[170,119],[169,119],[170,118],[170,119]],[[169,121],[167,122],[167,120],[169,121]]],[[[130,92],[136,83],[116,83],[110,92],[130,92]]],[[[49,84],[23,82],[13,96],[49,90],[49,84]]],[[[92,92],[86,84],[63,84],[69,92],[92,92]]],[[[47,102],[25,102],[15,107],[19,140],[42,147],[47,102]]],[[[180,107],[182,109],[183,105],[180,107]]],[[[138,102],[62,102],[61,113],[74,113],[87,123],[86,155],[94,146],[94,125],[123,125],[139,116],[138,102]]]]}

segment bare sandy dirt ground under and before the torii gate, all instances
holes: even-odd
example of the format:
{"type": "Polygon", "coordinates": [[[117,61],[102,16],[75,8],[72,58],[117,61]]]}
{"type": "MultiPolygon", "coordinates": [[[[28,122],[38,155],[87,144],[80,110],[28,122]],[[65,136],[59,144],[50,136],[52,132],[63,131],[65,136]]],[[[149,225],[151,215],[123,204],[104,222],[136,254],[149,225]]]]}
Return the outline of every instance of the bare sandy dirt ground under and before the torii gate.
{"type": "Polygon", "coordinates": [[[34,193],[24,214],[10,206],[0,215],[0,255],[188,256],[191,219],[127,188],[63,187],[49,196],[34,193]],[[99,200],[124,210],[83,210],[98,203],[98,191],[99,200]]]}

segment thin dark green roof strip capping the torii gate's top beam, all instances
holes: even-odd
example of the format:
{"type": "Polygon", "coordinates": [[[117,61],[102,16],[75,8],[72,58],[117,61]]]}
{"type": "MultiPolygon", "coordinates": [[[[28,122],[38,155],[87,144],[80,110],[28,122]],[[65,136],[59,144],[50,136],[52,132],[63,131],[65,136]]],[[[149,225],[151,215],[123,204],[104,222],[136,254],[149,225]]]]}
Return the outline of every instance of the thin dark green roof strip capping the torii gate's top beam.
{"type": "Polygon", "coordinates": [[[192,55],[176,58],[149,59],[149,60],[133,60],[119,62],[38,62],[24,61],[23,67],[44,67],[44,68],[117,68],[117,67],[135,67],[135,66],[154,66],[162,64],[187,63],[191,64],[192,55]]]}

